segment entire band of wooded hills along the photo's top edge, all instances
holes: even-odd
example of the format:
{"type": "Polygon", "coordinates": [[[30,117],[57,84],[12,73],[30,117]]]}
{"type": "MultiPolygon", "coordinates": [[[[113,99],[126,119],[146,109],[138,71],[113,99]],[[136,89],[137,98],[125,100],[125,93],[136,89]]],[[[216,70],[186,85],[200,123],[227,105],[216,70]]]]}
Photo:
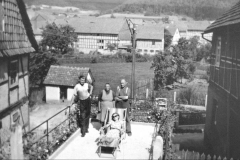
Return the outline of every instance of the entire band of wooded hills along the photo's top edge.
{"type": "Polygon", "coordinates": [[[83,10],[143,13],[146,16],[186,15],[215,20],[239,0],[24,0],[28,5],[74,6],[83,10]]]}

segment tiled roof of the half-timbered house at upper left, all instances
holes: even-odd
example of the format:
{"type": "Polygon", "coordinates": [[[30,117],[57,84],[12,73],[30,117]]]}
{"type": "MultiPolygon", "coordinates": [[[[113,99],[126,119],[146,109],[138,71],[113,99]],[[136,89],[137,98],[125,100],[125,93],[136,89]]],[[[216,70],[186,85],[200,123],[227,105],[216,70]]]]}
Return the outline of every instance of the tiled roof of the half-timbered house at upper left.
{"type": "Polygon", "coordinates": [[[25,6],[24,8],[19,8],[20,3],[23,3],[23,1],[5,0],[1,3],[3,3],[3,6],[0,6],[0,50],[2,51],[0,52],[0,57],[35,51],[29,41],[26,26],[24,26],[22,19],[24,17],[22,15],[24,13],[23,9],[26,12],[25,6]]]}

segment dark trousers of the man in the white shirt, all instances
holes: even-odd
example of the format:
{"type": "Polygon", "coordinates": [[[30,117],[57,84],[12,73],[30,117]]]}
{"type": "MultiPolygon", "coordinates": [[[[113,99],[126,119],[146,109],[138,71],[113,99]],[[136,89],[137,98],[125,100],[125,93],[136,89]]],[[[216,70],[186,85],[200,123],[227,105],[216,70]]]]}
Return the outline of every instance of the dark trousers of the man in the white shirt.
{"type": "Polygon", "coordinates": [[[89,119],[91,114],[91,99],[90,97],[85,100],[79,100],[77,102],[77,108],[79,110],[77,114],[77,124],[81,129],[81,133],[85,134],[89,128],[89,119]]]}

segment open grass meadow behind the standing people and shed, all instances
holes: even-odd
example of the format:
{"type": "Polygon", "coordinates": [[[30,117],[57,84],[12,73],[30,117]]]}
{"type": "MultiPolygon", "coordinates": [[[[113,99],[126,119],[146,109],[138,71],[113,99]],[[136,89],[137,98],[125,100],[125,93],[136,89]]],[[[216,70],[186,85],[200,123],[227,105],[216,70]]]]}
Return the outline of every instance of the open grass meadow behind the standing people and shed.
{"type": "MultiPolygon", "coordinates": [[[[110,83],[113,91],[122,78],[131,84],[131,63],[82,63],[82,64],[66,64],[67,66],[89,67],[95,79],[94,94],[98,94],[104,89],[105,83],[110,83]]],[[[154,77],[153,70],[150,69],[151,63],[136,63],[135,80],[145,80],[154,77]]]]}

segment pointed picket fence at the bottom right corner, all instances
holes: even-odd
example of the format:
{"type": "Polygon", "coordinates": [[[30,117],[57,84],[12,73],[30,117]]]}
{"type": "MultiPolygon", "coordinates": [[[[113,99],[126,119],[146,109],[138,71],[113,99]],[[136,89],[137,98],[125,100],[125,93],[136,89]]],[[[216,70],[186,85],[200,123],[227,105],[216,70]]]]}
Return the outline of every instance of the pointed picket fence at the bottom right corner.
{"type": "Polygon", "coordinates": [[[221,156],[210,156],[210,155],[205,155],[204,153],[200,154],[199,152],[194,152],[194,151],[179,151],[178,155],[176,157],[177,159],[182,159],[182,160],[234,160],[233,158],[226,158],[226,157],[221,157],[221,156]]]}

